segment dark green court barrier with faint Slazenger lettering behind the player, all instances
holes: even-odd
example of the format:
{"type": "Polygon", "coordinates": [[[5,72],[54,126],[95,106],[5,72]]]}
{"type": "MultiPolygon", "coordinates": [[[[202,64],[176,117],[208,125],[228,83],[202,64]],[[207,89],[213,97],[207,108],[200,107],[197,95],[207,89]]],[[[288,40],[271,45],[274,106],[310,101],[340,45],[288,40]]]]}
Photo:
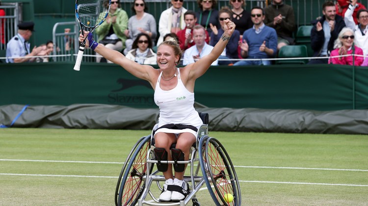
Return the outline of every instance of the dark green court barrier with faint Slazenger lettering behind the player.
{"type": "MultiPolygon", "coordinates": [[[[0,64],[0,105],[111,104],[157,108],[144,80],[112,64],[0,64]]],[[[344,110],[368,108],[368,70],[341,65],[211,67],[195,100],[211,108],[344,110]]]]}

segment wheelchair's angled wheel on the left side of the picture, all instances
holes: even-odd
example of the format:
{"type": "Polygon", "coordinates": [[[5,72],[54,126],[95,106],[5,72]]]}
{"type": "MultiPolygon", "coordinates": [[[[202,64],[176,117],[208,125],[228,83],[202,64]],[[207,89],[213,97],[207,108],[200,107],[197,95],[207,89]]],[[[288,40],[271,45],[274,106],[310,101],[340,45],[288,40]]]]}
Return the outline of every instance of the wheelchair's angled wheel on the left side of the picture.
{"type": "Polygon", "coordinates": [[[145,185],[142,178],[147,173],[146,161],[150,146],[151,135],[140,139],[128,156],[120,173],[123,176],[119,177],[116,187],[115,204],[117,206],[134,206],[142,195],[145,185]]]}

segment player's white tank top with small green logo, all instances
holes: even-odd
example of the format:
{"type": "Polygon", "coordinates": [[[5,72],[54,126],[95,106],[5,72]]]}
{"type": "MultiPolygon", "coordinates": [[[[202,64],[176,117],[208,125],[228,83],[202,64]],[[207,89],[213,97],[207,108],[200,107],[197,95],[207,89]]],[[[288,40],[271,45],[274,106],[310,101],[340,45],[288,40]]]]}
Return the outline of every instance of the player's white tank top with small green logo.
{"type": "Polygon", "coordinates": [[[178,84],[172,90],[162,90],[160,79],[162,71],[158,76],[155,89],[155,103],[160,110],[158,127],[165,124],[185,124],[199,127],[203,124],[198,112],[194,109],[194,93],[189,92],[180,79],[178,69],[178,84]]]}

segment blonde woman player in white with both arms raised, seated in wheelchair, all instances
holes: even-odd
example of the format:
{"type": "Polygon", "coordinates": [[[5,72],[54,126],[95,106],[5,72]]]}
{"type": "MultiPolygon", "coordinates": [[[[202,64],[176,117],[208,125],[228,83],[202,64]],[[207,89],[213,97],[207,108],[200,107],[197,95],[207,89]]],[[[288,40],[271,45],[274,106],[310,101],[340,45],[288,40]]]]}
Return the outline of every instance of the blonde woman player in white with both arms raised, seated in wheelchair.
{"type": "MultiPolygon", "coordinates": [[[[194,83],[202,76],[225,49],[235,24],[225,20],[224,34],[207,56],[184,68],[177,68],[182,51],[178,42],[165,41],[158,46],[157,63],[159,69],[150,65],[140,65],[127,59],[118,51],[96,43],[92,34],[85,32],[79,36],[82,42],[88,39],[89,46],[105,59],[120,65],[137,78],[147,80],[155,90],[154,99],[159,107],[158,129],[155,132],[155,157],[160,160],[188,160],[189,149],[195,143],[197,130],[203,124],[194,110],[194,83]],[[176,143],[175,148],[171,145],[176,143]],[[169,155],[171,153],[171,155],[169,155]]],[[[185,198],[188,185],[184,181],[186,165],[158,164],[166,181],[160,194],[160,201],[180,201],[185,198]]]]}

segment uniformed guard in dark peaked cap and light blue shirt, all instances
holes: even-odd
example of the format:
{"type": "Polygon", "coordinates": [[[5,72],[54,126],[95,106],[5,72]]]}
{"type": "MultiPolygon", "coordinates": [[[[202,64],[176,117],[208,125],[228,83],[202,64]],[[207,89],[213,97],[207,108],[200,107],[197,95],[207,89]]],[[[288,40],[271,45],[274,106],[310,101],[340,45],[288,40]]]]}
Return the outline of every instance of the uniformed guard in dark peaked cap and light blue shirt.
{"type": "Polygon", "coordinates": [[[32,36],[34,23],[24,22],[18,24],[18,34],[15,35],[6,45],[6,62],[7,63],[22,63],[33,62],[35,58],[16,58],[16,57],[30,57],[37,56],[42,50],[41,47],[34,47],[30,51],[30,44],[27,42],[32,36]]]}

